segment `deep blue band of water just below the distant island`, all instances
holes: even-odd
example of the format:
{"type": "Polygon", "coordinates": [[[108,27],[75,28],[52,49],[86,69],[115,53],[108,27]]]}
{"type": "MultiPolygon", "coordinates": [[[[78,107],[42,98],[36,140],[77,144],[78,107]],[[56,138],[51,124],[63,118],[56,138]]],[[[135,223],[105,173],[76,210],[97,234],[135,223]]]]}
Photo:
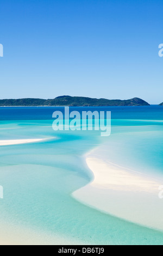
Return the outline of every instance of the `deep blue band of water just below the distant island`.
{"type": "MultiPolygon", "coordinates": [[[[64,107],[0,107],[0,120],[49,120],[64,107]]],[[[70,111],[111,111],[112,119],[163,120],[163,106],[70,107],[70,111]]]]}

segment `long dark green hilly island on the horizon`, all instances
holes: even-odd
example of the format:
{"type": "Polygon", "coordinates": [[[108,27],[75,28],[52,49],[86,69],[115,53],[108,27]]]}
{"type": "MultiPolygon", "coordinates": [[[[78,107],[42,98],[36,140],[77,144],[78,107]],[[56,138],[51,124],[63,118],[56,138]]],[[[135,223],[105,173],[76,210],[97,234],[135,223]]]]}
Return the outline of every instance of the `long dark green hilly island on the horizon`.
{"type": "Polygon", "coordinates": [[[130,100],[92,99],[90,97],[59,96],[55,99],[10,99],[0,100],[0,106],[150,106],[137,97],[130,100]]]}

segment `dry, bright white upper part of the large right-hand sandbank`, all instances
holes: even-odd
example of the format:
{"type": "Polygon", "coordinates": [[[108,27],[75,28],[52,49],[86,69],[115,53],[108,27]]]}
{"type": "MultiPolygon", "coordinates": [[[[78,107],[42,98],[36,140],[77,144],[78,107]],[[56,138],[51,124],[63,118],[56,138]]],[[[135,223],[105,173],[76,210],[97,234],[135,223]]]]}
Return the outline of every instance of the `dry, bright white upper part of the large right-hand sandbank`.
{"type": "Polygon", "coordinates": [[[116,191],[158,192],[160,184],[147,176],[143,176],[141,173],[92,157],[87,157],[86,163],[95,176],[91,183],[93,187],[116,191]]]}

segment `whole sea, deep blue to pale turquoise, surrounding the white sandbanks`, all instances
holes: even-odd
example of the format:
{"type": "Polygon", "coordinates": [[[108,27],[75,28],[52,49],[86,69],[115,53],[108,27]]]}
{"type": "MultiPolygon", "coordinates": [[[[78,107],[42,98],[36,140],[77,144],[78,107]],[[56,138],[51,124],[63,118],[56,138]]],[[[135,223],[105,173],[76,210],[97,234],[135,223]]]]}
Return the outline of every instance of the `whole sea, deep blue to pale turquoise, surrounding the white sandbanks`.
{"type": "MultiPolygon", "coordinates": [[[[73,108],[85,109],[97,108],[73,108]]],[[[91,181],[84,155],[99,146],[110,161],[159,177],[163,185],[163,107],[99,109],[112,113],[110,137],[98,131],[53,131],[53,107],[0,108],[0,140],[47,138],[0,147],[1,223],[83,244],[163,244],[160,231],[103,214],[71,196],[91,181]]]]}

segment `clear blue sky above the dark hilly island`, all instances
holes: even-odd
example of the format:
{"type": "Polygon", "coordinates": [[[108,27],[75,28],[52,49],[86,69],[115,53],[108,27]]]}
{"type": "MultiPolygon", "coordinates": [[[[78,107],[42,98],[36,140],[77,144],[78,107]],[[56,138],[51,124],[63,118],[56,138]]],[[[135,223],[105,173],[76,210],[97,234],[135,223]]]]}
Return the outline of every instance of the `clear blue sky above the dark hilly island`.
{"type": "Polygon", "coordinates": [[[163,102],[162,13],[162,0],[0,0],[0,98],[163,102]]]}

